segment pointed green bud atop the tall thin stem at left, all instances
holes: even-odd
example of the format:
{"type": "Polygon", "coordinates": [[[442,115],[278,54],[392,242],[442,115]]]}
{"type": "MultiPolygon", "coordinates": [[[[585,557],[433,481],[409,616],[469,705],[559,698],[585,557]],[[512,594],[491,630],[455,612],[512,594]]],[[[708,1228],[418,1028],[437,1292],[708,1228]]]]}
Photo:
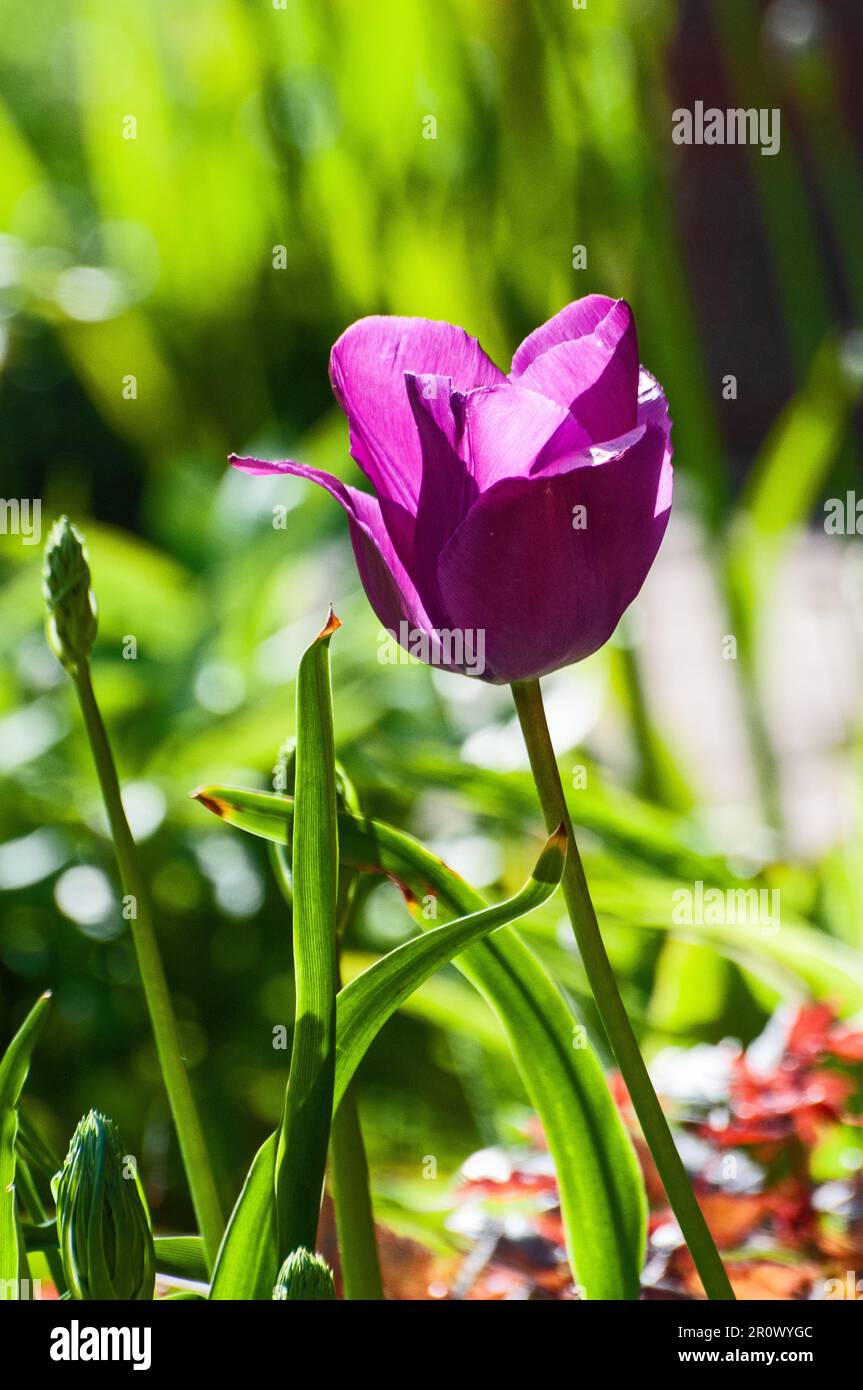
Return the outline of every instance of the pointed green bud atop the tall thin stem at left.
{"type": "Polygon", "coordinates": [[[49,610],[49,646],[74,674],[90,655],[97,623],[86,546],[68,517],[54,523],[46,541],[42,592],[49,610]]]}

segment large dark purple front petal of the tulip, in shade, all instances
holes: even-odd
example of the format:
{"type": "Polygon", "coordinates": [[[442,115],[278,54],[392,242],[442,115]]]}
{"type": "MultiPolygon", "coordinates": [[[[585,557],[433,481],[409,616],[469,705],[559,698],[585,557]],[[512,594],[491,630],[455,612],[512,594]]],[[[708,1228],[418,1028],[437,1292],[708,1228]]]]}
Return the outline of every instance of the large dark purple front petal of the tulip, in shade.
{"type": "Polygon", "coordinates": [[[438,574],[450,627],[485,634],[486,680],[532,680],[609,639],[664,535],[670,474],[648,424],[616,457],[482,493],[438,574]]]}

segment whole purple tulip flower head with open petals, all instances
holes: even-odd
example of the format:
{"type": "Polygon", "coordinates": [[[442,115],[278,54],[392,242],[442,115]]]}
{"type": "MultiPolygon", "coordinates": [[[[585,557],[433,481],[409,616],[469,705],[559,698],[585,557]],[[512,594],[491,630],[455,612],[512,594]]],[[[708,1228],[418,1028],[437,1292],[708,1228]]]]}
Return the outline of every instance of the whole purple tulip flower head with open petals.
{"type": "Polygon", "coordinates": [[[664,392],[623,299],[568,304],[509,377],[452,324],[361,318],[329,375],[374,495],[302,463],[231,463],[342,503],[371,606],[402,645],[503,684],[609,639],[659,550],[673,475],[664,392]]]}

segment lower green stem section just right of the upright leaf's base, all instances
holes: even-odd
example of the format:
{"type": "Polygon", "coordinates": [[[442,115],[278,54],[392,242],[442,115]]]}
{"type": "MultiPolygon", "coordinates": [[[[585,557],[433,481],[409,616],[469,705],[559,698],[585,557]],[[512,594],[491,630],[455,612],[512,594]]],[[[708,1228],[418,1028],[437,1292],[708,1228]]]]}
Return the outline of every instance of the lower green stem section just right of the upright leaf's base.
{"type": "Polygon", "coordinates": [[[339,1237],[345,1298],[379,1300],[381,1266],[368,1191],[368,1163],[353,1083],[332,1118],[329,1186],[339,1237]]]}

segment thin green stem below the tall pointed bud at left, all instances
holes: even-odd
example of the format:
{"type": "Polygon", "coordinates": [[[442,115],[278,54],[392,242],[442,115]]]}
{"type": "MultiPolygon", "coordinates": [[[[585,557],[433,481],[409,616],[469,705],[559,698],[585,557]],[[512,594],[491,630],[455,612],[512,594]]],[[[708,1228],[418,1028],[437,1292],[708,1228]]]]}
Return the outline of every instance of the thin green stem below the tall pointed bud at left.
{"type": "Polygon", "coordinates": [[[132,840],[132,833],[122,809],[111,745],[108,744],[108,735],[99,712],[99,705],[96,703],[86,659],[81,660],[71,674],[78,691],[81,712],[101,785],[122,888],[135,903],[132,941],[135,942],[135,952],[138,955],[138,969],[140,970],[145,998],[150,1011],[156,1049],[192,1193],[197,1229],[204,1243],[207,1265],[213,1270],[225,1223],[210,1166],[210,1155],[189,1084],[186,1063],[182,1056],[174,1005],[171,1004],[168,983],[158,954],[158,942],[153,930],[149,895],[140,872],[135,841],[132,840]]]}

